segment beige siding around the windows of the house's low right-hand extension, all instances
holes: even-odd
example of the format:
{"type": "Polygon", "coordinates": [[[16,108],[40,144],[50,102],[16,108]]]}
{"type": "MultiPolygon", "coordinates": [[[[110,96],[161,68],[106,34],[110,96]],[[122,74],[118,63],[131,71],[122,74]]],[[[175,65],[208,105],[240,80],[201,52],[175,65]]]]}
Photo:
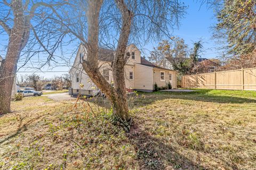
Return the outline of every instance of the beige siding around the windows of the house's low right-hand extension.
{"type": "Polygon", "coordinates": [[[161,86],[166,86],[167,83],[169,82],[169,74],[172,74],[172,88],[177,88],[177,73],[174,71],[165,71],[165,70],[158,70],[158,69],[154,69],[154,73],[153,73],[153,84],[155,84],[155,82],[157,83],[158,87],[161,86]],[[165,80],[161,81],[161,72],[165,73],[165,80]]]}

